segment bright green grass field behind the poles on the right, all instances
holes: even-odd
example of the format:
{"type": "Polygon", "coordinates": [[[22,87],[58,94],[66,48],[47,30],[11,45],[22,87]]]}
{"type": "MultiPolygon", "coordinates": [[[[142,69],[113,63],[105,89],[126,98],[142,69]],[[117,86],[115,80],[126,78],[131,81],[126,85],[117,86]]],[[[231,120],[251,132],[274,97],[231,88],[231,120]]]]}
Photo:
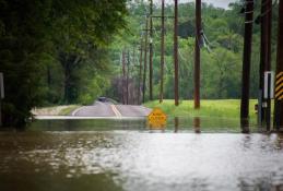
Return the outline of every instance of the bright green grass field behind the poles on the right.
{"type": "MultiPolygon", "coordinates": [[[[251,119],[256,119],[255,104],[256,99],[249,103],[249,114],[251,119]]],[[[163,104],[158,100],[145,103],[144,106],[150,108],[158,107],[172,117],[221,117],[221,118],[239,118],[239,99],[214,99],[201,100],[201,108],[193,109],[193,100],[181,100],[176,107],[174,100],[167,99],[163,104]]]]}

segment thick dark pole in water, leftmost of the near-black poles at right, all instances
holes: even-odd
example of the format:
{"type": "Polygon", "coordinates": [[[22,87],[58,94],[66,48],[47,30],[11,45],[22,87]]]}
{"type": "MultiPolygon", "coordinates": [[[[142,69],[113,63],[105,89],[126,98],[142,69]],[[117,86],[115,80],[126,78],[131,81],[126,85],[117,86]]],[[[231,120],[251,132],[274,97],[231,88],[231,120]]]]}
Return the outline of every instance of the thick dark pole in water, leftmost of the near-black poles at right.
{"type": "Polygon", "coordinates": [[[253,0],[246,0],[245,10],[245,41],[241,76],[241,100],[240,100],[240,124],[243,131],[249,126],[249,80],[250,80],[250,60],[251,60],[251,40],[253,23],[253,0]]]}

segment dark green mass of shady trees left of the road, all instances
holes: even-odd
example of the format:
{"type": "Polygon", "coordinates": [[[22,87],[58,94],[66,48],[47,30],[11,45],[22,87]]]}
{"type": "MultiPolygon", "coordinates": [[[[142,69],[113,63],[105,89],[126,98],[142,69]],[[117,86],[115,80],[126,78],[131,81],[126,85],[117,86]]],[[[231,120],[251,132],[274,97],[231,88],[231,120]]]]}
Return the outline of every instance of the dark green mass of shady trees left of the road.
{"type": "Polygon", "coordinates": [[[106,48],[125,14],[126,0],[0,0],[5,126],[24,126],[35,106],[103,94],[106,48]]]}

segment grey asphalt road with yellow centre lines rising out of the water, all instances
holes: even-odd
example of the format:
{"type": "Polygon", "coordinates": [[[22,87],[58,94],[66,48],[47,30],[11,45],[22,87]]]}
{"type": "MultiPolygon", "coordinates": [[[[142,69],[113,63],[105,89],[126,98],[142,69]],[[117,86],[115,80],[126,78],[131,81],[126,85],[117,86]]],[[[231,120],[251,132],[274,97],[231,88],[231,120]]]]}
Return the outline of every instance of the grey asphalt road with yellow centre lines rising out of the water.
{"type": "Polygon", "coordinates": [[[143,106],[114,105],[96,102],[93,106],[84,106],[72,112],[79,117],[145,117],[151,109],[143,106]]]}

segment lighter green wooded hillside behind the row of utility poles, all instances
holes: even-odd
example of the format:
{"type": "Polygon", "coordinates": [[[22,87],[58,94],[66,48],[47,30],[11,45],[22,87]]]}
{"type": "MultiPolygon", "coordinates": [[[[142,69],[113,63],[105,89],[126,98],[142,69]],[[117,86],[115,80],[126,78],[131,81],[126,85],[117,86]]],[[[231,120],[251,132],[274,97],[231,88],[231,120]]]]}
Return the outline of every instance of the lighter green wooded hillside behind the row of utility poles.
{"type": "MultiPolygon", "coordinates": [[[[251,97],[258,95],[259,63],[260,63],[260,9],[261,1],[256,0],[252,62],[251,62],[251,97]],[[258,24],[257,24],[258,23],[258,24]]],[[[239,98],[241,84],[241,65],[244,48],[245,15],[240,13],[245,7],[244,1],[231,3],[227,10],[214,8],[212,4],[202,3],[202,28],[207,37],[201,41],[201,97],[239,98]]],[[[141,38],[144,39],[145,15],[149,14],[149,3],[131,3],[129,5],[128,25],[123,36],[117,36],[111,46],[111,60],[116,60],[117,75],[121,76],[120,52],[129,49],[131,56],[131,73],[138,84],[139,53],[141,38]]],[[[161,7],[154,5],[153,15],[161,15],[161,7]]],[[[174,15],[174,5],[167,4],[165,15],[174,15]]],[[[179,4],[179,85],[180,98],[188,99],[193,96],[193,59],[194,59],[194,2],[179,4]]],[[[272,16],[272,65],[275,64],[276,32],[278,32],[278,4],[273,5],[272,16]]],[[[165,36],[165,98],[174,98],[174,60],[173,60],[173,28],[174,20],[166,19],[165,36]]],[[[161,63],[161,19],[153,19],[153,82],[154,98],[160,95],[160,63],[161,63]]],[[[148,53],[149,55],[149,53],[148,53]]],[[[148,57],[149,59],[149,57],[148,57]]],[[[149,63],[149,61],[148,61],[149,63]]],[[[148,67],[149,69],[149,67],[148,67]]],[[[148,72],[149,74],[149,72],[148,72]]],[[[149,76],[148,76],[149,77],[149,76]]],[[[146,80],[146,87],[149,80],[146,80]]],[[[135,85],[138,87],[138,85],[135,85]]],[[[117,92],[117,91],[116,91],[117,92]]],[[[149,91],[146,91],[148,97],[149,91]]],[[[121,99],[120,94],[113,93],[116,99],[121,99]]]]}

